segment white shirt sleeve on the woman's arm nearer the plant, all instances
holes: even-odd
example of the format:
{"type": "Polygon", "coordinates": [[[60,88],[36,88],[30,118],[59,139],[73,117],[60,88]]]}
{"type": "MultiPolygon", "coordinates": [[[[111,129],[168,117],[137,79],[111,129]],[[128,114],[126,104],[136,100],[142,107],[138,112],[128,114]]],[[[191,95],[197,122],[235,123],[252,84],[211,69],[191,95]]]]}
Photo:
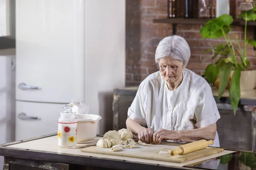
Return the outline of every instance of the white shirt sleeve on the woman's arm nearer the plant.
{"type": "Polygon", "coordinates": [[[198,96],[195,108],[195,126],[200,128],[212,125],[220,118],[221,116],[212,95],[212,88],[208,84],[204,85],[198,96]]]}

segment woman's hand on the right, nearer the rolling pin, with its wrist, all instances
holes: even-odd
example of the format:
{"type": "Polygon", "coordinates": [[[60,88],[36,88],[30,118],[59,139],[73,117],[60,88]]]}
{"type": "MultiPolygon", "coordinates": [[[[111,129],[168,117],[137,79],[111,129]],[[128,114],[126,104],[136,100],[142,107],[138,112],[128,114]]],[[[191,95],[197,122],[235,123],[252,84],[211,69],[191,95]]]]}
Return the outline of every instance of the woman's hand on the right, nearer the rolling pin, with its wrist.
{"type": "Polygon", "coordinates": [[[163,140],[178,140],[178,131],[177,130],[166,130],[159,129],[153,134],[153,141],[155,144],[160,144],[163,140]]]}

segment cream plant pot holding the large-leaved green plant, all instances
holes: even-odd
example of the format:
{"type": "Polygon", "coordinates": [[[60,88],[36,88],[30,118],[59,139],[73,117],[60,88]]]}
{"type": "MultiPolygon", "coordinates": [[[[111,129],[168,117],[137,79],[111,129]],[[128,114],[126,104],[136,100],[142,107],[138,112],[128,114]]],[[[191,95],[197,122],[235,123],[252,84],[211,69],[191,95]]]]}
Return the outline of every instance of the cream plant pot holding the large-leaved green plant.
{"type": "MultiPolygon", "coordinates": [[[[234,73],[232,70],[231,75],[234,73]]],[[[241,71],[240,76],[240,91],[250,91],[255,87],[256,70],[241,71]]]]}

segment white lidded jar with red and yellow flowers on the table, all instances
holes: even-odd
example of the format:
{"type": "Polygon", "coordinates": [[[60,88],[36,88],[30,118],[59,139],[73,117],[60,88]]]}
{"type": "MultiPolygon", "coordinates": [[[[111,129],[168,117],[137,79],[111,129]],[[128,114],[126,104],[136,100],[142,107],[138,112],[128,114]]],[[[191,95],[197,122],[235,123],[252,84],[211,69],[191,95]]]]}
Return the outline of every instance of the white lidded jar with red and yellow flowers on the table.
{"type": "Polygon", "coordinates": [[[58,119],[58,146],[61,148],[76,147],[77,119],[72,106],[65,105],[58,119]]]}

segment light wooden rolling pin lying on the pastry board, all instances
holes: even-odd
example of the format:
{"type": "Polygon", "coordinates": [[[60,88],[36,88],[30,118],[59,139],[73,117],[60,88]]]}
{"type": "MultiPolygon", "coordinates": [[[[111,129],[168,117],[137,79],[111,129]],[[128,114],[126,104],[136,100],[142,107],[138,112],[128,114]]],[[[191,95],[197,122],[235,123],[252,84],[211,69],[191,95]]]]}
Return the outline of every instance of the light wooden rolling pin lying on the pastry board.
{"type": "Polygon", "coordinates": [[[191,142],[188,144],[183,144],[181,146],[178,146],[175,150],[170,150],[170,155],[174,156],[176,154],[184,155],[187,153],[195,152],[197,150],[205,149],[208,147],[208,145],[213,144],[213,140],[200,140],[196,142],[191,142]]]}

